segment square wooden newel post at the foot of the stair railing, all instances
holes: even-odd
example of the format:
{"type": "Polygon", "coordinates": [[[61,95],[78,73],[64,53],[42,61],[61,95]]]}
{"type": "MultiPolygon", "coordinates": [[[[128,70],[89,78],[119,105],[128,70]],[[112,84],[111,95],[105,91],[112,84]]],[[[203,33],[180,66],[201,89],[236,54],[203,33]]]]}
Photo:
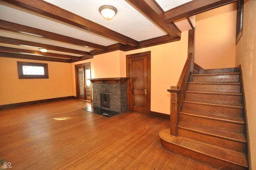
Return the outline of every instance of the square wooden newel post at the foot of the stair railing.
{"type": "Polygon", "coordinates": [[[171,86],[167,91],[171,93],[170,134],[177,136],[178,101],[182,90],[178,86],[171,86]]]}

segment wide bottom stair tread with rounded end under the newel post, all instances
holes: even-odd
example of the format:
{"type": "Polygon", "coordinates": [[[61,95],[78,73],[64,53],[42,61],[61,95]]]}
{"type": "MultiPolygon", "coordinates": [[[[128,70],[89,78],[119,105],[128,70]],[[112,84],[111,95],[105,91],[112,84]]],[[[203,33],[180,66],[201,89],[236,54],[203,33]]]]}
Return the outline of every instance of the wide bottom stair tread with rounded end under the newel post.
{"type": "Polygon", "coordinates": [[[243,167],[248,167],[246,156],[241,152],[236,152],[233,150],[228,150],[225,148],[220,148],[218,146],[213,146],[206,144],[204,142],[199,142],[182,136],[172,136],[170,135],[170,129],[161,130],[159,136],[162,140],[172,143],[195,152],[211,156],[220,160],[227,162],[232,162],[243,167]]]}

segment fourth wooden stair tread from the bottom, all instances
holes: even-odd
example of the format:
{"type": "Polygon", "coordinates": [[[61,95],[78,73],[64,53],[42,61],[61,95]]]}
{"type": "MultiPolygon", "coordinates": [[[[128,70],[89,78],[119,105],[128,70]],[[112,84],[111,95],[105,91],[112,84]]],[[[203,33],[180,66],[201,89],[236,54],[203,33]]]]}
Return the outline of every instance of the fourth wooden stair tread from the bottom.
{"type": "Polygon", "coordinates": [[[204,105],[211,105],[211,106],[243,109],[242,104],[237,104],[237,103],[225,103],[225,102],[215,102],[215,101],[209,101],[209,100],[190,100],[190,99],[183,100],[183,102],[191,103],[191,104],[204,104],[204,105]]]}

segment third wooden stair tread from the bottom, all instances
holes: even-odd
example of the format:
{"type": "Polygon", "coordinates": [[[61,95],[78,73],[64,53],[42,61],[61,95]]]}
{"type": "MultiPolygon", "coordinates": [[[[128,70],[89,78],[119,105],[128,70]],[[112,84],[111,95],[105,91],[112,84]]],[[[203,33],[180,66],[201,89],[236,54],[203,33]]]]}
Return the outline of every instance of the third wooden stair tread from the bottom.
{"type": "Polygon", "coordinates": [[[186,110],[182,109],[180,110],[180,114],[186,114],[190,116],[200,117],[200,118],[207,118],[212,120],[219,120],[223,122],[231,122],[236,124],[244,124],[244,120],[239,117],[234,116],[226,116],[226,115],[220,115],[220,114],[210,114],[210,113],[204,113],[204,112],[196,112],[192,110],[186,110]]]}

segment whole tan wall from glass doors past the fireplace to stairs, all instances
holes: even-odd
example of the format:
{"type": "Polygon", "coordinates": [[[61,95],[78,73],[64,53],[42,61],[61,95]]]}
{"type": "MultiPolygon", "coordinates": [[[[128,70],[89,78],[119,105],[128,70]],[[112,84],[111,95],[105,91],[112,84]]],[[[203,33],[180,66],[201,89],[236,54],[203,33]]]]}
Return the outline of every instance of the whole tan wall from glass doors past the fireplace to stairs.
{"type": "MultiPolygon", "coordinates": [[[[126,77],[126,55],[151,51],[151,111],[170,114],[170,93],[167,89],[176,86],[184,67],[188,51],[188,31],[182,32],[180,41],[132,50],[114,51],[94,56],[90,62],[92,78],[126,77]],[[177,50],[182,49],[182,50],[177,50]]],[[[72,75],[74,75],[72,73],[72,75]]],[[[73,77],[73,96],[76,96],[73,77]]]]}

